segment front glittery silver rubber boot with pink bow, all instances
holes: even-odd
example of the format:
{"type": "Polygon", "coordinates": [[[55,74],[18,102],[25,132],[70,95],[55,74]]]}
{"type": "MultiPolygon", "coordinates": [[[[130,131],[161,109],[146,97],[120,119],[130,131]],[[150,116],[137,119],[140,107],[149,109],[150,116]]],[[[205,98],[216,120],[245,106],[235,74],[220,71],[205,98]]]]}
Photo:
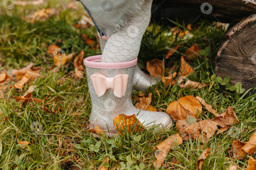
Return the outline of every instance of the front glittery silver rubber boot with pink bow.
{"type": "Polygon", "coordinates": [[[113,119],[119,114],[137,118],[145,127],[172,125],[172,118],[164,112],[135,108],[131,102],[132,81],[137,59],[122,63],[101,63],[101,55],[84,59],[89,93],[92,102],[90,128],[99,125],[103,130],[115,133],[113,119]]]}

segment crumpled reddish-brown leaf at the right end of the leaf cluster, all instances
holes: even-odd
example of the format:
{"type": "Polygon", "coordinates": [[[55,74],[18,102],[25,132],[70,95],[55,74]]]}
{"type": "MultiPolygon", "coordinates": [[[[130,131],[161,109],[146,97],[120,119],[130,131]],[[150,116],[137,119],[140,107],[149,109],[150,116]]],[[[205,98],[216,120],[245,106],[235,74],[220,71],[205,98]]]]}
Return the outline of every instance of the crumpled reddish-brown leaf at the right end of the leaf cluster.
{"type": "Polygon", "coordinates": [[[233,123],[239,123],[238,118],[235,115],[233,107],[227,107],[227,109],[220,115],[214,117],[212,121],[216,122],[220,127],[231,126],[233,123]]]}

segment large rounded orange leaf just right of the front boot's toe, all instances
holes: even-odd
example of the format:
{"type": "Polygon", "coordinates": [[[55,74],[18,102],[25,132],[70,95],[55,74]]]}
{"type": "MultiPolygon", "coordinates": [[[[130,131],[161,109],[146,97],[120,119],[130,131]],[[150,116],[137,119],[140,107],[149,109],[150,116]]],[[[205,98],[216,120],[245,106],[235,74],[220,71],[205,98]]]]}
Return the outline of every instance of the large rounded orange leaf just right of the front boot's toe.
{"type": "Polygon", "coordinates": [[[198,119],[198,113],[202,112],[202,105],[198,99],[189,95],[171,102],[166,111],[176,121],[186,119],[188,115],[198,119]]]}

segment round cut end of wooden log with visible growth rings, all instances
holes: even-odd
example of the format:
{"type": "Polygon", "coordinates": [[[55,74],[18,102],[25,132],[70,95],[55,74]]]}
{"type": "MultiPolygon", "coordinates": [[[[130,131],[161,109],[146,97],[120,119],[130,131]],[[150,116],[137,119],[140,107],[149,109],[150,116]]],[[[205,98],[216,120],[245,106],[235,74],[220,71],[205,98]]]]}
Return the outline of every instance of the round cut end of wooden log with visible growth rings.
{"type": "Polygon", "coordinates": [[[214,60],[216,76],[231,76],[231,86],[256,87],[256,14],[241,20],[226,33],[214,60]]]}

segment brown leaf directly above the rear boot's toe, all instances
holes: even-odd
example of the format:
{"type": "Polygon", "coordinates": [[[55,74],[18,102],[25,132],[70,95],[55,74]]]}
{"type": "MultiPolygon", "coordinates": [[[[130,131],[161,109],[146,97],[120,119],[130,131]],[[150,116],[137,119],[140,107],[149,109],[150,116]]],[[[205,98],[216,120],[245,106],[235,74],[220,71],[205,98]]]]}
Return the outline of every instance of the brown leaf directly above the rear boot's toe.
{"type": "Polygon", "coordinates": [[[159,59],[152,59],[146,63],[146,68],[150,76],[162,77],[163,67],[163,61],[159,59]]]}

